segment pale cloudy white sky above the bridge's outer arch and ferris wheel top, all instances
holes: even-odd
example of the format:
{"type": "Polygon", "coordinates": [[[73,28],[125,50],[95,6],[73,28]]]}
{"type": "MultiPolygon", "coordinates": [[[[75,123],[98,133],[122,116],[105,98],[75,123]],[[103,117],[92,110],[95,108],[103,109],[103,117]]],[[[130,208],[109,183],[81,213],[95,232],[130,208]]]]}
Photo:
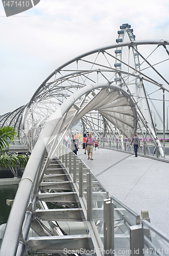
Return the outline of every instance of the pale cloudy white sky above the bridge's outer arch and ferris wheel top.
{"type": "Polygon", "coordinates": [[[26,104],[68,60],[116,43],[128,23],[136,40],[169,39],[167,0],[41,0],[6,17],[0,2],[0,115],[26,104]]]}

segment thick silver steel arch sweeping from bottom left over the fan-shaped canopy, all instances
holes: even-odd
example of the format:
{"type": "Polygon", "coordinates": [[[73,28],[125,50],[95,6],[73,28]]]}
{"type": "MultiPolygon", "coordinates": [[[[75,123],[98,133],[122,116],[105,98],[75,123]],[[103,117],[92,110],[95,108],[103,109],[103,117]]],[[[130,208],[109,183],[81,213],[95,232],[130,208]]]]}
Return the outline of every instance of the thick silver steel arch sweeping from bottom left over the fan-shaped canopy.
{"type": "MultiPolygon", "coordinates": [[[[78,119],[78,115],[81,117],[85,113],[88,113],[90,110],[97,108],[97,96],[99,96],[100,100],[102,99],[104,103],[106,98],[110,98],[110,96],[116,92],[120,92],[121,99],[124,99],[126,102],[128,102],[128,108],[131,109],[133,117],[133,134],[137,126],[137,114],[134,102],[132,98],[129,97],[129,95],[123,89],[121,89],[121,87],[114,86],[112,85],[112,83],[109,82],[104,84],[90,84],[86,87],[81,88],[73,95],[71,95],[68,99],[66,99],[60,106],[60,108],[55,111],[46,121],[44,129],[40,134],[40,137],[34,147],[29,162],[25,167],[22,179],[19,183],[17,194],[15,196],[15,201],[13,203],[10,217],[8,219],[8,223],[4,233],[0,256],[14,256],[16,254],[26,208],[28,207],[30,199],[33,202],[40,182],[43,179],[45,170],[49,165],[53,154],[58,149],[58,146],[61,143],[61,140],[58,141],[59,135],[69,129],[71,123],[73,123],[75,119],[78,119]],[[100,91],[96,96],[93,96],[93,99],[90,102],[85,103],[84,99],[81,99],[79,102],[79,99],[82,96],[87,96],[93,90],[99,88],[103,91],[100,91]],[[44,155],[46,153],[46,148],[51,142],[52,145],[50,145],[48,158],[44,167],[41,170],[40,166],[42,166],[44,155]],[[7,243],[9,243],[9,241],[11,241],[10,246],[7,246],[7,243]]],[[[127,108],[127,105],[125,105],[125,108],[127,108]]],[[[129,125],[131,126],[131,122],[129,122],[129,125]]]]}

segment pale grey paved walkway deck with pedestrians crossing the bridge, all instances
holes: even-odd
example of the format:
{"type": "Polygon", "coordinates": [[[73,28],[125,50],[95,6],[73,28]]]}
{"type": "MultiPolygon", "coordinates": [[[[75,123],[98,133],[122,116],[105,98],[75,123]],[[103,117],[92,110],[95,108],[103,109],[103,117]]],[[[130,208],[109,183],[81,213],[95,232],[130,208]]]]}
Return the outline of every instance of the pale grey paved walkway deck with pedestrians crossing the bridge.
{"type": "Polygon", "coordinates": [[[99,148],[86,163],[111,196],[140,215],[148,209],[151,223],[169,235],[169,163],[99,148]]]}

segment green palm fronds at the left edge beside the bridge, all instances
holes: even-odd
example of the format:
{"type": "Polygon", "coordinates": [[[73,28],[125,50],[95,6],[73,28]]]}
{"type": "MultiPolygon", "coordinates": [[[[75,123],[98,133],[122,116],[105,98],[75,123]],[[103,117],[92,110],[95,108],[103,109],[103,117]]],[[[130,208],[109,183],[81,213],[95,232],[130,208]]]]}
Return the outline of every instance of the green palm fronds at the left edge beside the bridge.
{"type": "MultiPolygon", "coordinates": [[[[7,125],[0,128],[0,152],[6,150],[15,137],[17,132],[13,127],[7,125]]],[[[28,160],[29,156],[4,153],[0,155],[0,166],[9,166],[13,175],[17,177],[17,167],[26,166],[28,160]]]]}

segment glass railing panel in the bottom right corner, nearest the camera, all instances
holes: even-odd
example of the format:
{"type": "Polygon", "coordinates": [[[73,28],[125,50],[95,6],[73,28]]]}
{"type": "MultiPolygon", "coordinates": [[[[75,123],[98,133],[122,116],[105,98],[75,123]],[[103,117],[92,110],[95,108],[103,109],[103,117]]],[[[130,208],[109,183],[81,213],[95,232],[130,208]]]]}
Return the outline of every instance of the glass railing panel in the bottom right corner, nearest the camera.
{"type": "Polygon", "coordinates": [[[142,221],[143,254],[169,255],[169,237],[147,221],[142,221]]]}

